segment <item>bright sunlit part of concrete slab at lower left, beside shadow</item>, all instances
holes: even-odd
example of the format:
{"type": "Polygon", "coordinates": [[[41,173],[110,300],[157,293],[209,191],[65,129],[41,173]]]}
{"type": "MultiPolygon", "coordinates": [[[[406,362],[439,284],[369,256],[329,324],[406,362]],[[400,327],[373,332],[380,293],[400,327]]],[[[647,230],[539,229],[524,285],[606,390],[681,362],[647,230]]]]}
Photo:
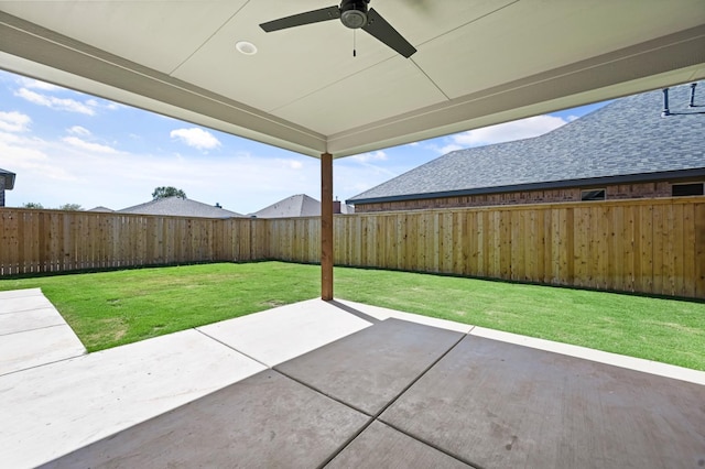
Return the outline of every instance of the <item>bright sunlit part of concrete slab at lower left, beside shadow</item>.
{"type": "Polygon", "coordinates": [[[47,462],[264,369],[192,329],[6,374],[0,460],[47,462]]]}

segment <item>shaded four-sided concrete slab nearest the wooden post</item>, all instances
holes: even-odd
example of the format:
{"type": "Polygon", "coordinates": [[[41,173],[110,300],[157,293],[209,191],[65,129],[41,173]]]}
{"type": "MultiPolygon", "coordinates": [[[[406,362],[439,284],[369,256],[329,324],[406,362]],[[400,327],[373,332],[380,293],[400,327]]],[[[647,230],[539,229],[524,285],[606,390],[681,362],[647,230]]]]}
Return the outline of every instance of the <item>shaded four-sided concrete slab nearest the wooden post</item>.
{"type": "Polygon", "coordinates": [[[390,318],[275,370],[376,415],[463,337],[453,330],[390,318]]]}

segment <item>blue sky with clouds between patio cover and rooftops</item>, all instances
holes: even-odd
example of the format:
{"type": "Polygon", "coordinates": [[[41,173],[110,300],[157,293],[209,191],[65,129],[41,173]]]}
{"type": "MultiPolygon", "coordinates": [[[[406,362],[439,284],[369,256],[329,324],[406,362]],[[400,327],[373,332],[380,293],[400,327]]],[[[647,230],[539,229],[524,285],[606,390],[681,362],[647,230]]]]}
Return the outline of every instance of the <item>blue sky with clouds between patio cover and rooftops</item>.
{"type": "MultiPolygon", "coordinates": [[[[335,160],[352,197],[449,151],[540,135],[601,105],[335,160]]],[[[294,194],[319,199],[318,160],[0,70],[0,168],[8,207],[121,209],[158,186],[249,214],[294,194]]]]}

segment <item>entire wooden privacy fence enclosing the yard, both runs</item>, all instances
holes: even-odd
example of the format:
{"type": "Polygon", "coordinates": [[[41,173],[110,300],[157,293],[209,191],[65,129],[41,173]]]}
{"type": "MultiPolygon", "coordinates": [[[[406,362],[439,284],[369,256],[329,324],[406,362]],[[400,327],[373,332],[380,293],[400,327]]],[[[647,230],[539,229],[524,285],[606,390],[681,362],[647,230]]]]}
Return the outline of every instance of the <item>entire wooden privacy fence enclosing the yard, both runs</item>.
{"type": "MultiPolygon", "coordinates": [[[[705,198],[336,216],[335,262],[705,297],[705,198]]],[[[319,261],[319,219],[0,210],[0,275],[319,261]]]]}

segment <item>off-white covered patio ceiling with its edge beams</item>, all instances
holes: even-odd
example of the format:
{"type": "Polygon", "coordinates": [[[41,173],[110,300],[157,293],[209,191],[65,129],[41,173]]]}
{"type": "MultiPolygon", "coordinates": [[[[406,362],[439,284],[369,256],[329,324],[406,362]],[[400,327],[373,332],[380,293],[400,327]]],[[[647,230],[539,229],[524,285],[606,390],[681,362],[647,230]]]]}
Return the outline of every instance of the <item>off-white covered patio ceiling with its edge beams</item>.
{"type": "Polygon", "coordinates": [[[334,3],[0,1],[0,67],[334,157],[705,78],[703,0],[372,0],[409,59],[361,31],[352,57],[338,21],[259,28],[334,3]]]}

